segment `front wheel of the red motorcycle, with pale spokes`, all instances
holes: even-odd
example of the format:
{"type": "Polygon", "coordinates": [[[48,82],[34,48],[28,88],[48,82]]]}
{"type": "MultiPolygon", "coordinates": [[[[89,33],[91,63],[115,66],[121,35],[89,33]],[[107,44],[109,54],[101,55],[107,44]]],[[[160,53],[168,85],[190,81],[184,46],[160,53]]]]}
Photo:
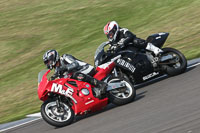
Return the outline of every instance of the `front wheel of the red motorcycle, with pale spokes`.
{"type": "Polygon", "coordinates": [[[71,124],[74,119],[74,111],[71,107],[60,102],[57,106],[56,100],[47,100],[41,106],[42,118],[50,125],[63,127],[71,124]]]}

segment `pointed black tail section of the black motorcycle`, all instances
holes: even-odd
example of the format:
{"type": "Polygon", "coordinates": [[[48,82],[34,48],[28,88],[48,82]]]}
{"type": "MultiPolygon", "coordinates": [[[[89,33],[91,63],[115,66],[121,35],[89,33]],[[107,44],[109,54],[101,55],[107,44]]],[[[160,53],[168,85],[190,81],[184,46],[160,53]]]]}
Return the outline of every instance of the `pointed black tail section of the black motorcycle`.
{"type": "Polygon", "coordinates": [[[167,32],[153,34],[147,38],[147,42],[150,42],[154,44],[155,46],[161,48],[164,45],[165,41],[167,40],[168,36],[169,36],[169,33],[167,32]]]}

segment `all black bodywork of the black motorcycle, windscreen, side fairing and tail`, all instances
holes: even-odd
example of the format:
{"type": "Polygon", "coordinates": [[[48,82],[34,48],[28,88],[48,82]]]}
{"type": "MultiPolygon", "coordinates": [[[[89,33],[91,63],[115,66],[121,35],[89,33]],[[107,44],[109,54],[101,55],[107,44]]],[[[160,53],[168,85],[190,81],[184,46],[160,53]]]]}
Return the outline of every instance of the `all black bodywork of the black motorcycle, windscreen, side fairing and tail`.
{"type": "MultiPolygon", "coordinates": [[[[168,36],[169,33],[167,32],[153,34],[147,38],[147,42],[151,42],[155,46],[161,48],[164,45],[168,36]]],[[[94,57],[95,67],[110,61],[110,59],[116,57],[117,55],[121,55],[122,56],[121,59],[128,62],[126,64],[129,63],[132,64],[135,69],[134,72],[132,72],[131,70],[133,69],[129,69],[133,68],[132,66],[127,65],[130,66],[129,68],[127,66],[123,66],[124,64],[123,65],[121,64],[120,66],[121,63],[120,61],[118,64],[118,68],[120,68],[129,77],[133,76],[134,80],[136,81],[136,84],[143,82],[144,77],[154,72],[154,68],[146,55],[145,49],[137,49],[132,45],[128,45],[123,49],[118,49],[115,50],[115,52],[113,53],[108,53],[104,51],[104,47],[107,46],[108,44],[109,42],[104,42],[97,48],[94,57]]]]}

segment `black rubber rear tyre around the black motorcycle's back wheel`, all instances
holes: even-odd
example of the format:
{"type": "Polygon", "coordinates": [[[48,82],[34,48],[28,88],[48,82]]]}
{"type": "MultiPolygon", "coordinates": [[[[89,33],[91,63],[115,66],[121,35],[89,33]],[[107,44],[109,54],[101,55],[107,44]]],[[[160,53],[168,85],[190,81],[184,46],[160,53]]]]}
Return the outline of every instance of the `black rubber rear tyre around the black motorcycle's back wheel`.
{"type": "Polygon", "coordinates": [[[174,48],[163,48],[163,51],[163,54],[172,53],[174,56],[176,56],[176,59],[178,60],[178,63],[176,64],[166,65],[165,71],[169,76],[175,76],[185,72],[185,70],[187,69],[187,60],[180,51],[174,48]]]}

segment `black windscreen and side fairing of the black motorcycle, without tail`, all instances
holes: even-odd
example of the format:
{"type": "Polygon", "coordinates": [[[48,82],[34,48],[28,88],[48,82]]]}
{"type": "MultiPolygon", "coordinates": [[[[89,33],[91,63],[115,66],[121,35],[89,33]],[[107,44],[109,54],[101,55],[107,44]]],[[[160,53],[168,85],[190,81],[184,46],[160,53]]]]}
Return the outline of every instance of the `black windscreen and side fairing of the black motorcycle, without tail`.
{"type": "Polygon", "coordinates": [[[145,51],[137,49],[132,46],[126,47],[126,49],[116,51],[115,53],[106,53],[104,51],[104,47],[106,43],[102,43],[95,53],[95,67],[110,61],[113,57],[121,55],[122,59],[126,62],[132,64],[135,67],[135,71],[131,72],[127,68],[117,64],[122,71],[124,71],[127,75],[132,75],[135,78],[136,83],[143,82],[143,77],[153,72],[153,66],[151,62],[148,60],[145,51]]]}

